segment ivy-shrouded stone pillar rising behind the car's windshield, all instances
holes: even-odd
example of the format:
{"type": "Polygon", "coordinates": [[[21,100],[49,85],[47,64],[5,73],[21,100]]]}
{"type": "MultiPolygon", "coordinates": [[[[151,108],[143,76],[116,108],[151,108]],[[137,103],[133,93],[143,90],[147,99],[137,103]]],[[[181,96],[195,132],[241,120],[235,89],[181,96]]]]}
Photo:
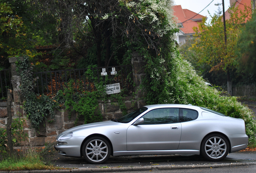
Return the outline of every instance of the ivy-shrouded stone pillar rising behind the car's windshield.
{"type": "Polygon", "coordinates": [[[142,80],[147,77],[145,73],[145,59],[143,56],[134,52],[132,54],[132,72],[133,72],[133,82],[135,84],[135,99],[137,99],[138,107],[145,105],[143,101],[146,96],[145,90],[142,88],[142,80]]]}

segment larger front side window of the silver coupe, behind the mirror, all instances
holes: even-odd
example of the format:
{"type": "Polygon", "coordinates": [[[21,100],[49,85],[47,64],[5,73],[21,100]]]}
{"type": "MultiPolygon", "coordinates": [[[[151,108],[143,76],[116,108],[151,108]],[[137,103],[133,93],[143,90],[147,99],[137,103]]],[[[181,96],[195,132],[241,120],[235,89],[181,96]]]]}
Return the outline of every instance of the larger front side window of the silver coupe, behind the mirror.
{"type": "Polygon", "coordinates": [[[179,109],[155,109],[145,114],[142,118],[144,118],[144,123],[142,123],[141,125],[178,123],[179,109]]]}

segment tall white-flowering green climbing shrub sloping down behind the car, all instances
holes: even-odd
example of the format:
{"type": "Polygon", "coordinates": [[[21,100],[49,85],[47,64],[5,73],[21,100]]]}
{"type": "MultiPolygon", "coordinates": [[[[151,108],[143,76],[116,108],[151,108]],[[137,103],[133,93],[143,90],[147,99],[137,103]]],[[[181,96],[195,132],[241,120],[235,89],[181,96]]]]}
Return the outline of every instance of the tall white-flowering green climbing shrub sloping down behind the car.
{"type": "MultiPolygon", "coordinates": [[[[256,125],[252,112],[237,102],[236,97],[222,96],[207,87],[189,62],[183,60],[174,40],[178,27],[169,0],[119,0],[131,12],[129,19],[143,26],[132,42],[133,51],[144,55],[149,78],[144,80],[147,104],[192,104],[219,111],[225,115],[242,118],[251,144],[255,143],[256,125]],[[143,30],[142,30],[143,28],[143,30]],[[153,37],[153,38],[152,38],[153,37]],[[150,42],[151,41],[151,42],[150,42]]],[[[127,26],[128,38],[132,31],[127,26]]],[[[138,32],[138,31],[137,31],[138,32]]],[[[131,40],[129,40],[131,42],[131,40]]]]}

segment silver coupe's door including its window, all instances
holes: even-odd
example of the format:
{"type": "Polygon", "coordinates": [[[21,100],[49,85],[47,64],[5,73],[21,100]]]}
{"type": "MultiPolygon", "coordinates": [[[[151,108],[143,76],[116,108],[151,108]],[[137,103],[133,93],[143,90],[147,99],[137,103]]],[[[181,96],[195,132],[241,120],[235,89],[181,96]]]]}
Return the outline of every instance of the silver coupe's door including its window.
{"type": "Polygon", "coordinates": [[[154,109],[144,123],[127,129],[127,151],[178,149],[182,132],[178,108],[154,109]]]}

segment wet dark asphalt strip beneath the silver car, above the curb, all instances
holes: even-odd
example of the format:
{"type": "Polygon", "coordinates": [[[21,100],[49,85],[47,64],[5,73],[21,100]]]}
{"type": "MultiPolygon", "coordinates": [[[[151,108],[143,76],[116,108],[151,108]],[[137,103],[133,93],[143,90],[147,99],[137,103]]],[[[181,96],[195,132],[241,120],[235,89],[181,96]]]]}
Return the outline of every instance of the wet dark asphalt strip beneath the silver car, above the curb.
{"type": "Polygon", "coordinates": [[[220,162],[206,161],[199,155],[137,155],[110,157],[103,164],[89,164],[83,158],[64,157],[56,154],[52,163],[63,168],[147,167],[171,165],[212,165],[225,163],[256,162],[256,151],[229,153],[220,162]]]}

